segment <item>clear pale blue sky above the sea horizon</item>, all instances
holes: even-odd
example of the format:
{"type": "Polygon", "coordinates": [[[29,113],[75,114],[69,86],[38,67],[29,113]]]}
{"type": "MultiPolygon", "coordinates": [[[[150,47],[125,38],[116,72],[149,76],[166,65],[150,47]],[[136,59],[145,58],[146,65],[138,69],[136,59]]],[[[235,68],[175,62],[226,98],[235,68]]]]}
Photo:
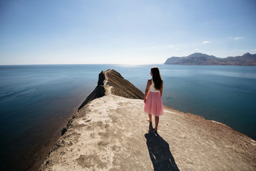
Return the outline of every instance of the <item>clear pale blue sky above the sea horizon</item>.
{"type": "Polygon", "coordinates": [[[255,0],[0,0],[0,65],[256,53],[255,0]]]}

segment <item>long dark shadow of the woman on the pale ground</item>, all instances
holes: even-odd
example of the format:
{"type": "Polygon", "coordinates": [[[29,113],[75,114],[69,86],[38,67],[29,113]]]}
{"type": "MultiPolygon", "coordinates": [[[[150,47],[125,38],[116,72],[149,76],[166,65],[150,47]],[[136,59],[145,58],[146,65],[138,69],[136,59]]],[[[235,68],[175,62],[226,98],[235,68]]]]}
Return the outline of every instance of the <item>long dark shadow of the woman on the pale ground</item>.
{"type": "Polygon", "coordinates": [[[175,163],[168,142],[155,133],[152,123],[149,124],[148,133],[145,134],[148,145],[148,153],[155,171],[179,170],[175,163]]]}

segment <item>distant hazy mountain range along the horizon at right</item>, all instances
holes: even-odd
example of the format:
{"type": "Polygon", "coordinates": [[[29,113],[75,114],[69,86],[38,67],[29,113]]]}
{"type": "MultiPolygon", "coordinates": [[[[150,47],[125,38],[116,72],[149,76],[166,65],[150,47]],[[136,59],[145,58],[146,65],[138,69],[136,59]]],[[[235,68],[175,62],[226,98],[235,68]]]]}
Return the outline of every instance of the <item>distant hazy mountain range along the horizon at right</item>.
{"type": "Polygon", "coordinates": [[[256,66],[256,54],[245,53],[243,56],[217,58],[205,53],[193,53],[185,57],[171,57],[165,61],[171,65],[198,66],[256,66]]]}

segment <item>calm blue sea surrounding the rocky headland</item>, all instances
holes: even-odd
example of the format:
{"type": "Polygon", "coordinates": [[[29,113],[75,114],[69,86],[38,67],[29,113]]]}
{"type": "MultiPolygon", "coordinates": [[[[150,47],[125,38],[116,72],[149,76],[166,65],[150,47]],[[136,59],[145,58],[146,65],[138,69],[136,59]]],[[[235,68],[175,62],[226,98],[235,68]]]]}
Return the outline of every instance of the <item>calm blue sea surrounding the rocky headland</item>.
{"type": "Polygon", "coordinates": [[[255,66],[0,66],[0,170],[37,170],[101,71],[118,71],[144,93],[153,66],[163,78],[164,105],[256,140],[255,66]]]}

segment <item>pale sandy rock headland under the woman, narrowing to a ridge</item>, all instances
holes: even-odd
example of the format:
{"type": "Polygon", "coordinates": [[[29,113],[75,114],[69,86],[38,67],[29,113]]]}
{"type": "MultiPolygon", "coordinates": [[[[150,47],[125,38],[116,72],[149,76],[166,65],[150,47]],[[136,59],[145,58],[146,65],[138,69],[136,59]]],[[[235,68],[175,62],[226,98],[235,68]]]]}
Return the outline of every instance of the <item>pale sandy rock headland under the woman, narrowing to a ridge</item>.
{"type": "Polygon", "coordinates": [[[155,133],[141,98],[116,71],[101,72],[40,170],[256,170],[255,140],[168,107],[155,133]]]}

